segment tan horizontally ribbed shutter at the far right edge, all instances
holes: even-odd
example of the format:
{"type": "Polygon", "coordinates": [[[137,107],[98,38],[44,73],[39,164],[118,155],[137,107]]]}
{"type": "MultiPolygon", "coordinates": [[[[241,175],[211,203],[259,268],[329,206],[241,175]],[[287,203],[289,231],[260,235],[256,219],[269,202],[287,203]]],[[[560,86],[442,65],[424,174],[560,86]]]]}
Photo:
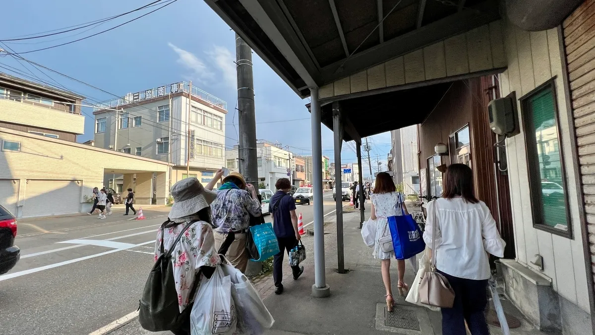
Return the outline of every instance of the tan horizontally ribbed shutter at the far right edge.
{"type": "Polygon", "coordinates": [[[583,2],[562,27],[595,278],[595,0],[583,2]]]}

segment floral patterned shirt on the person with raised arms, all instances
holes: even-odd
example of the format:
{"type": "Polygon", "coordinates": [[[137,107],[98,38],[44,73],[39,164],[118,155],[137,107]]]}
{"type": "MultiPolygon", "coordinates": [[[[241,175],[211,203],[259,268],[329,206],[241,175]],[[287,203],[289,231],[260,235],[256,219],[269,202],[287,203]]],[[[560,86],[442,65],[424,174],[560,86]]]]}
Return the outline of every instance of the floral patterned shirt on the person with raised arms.
{"type": "Polygon", "coordinates": [[[250,226],[250,214],[262,215],[261,203],[245,190],[218,190],[211,204],[213,225],[218,232],[239,231],[250,226]]]}

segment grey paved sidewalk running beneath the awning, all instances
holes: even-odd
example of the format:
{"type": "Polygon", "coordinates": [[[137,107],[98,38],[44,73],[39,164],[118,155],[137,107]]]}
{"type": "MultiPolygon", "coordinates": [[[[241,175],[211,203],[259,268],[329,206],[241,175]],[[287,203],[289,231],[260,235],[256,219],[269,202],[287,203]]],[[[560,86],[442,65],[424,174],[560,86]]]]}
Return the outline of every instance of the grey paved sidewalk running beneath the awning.
{"type": "MultiPolygon", "coordinates": [[[[369,209],[368,206],[366,206],[369,209]]],[[[366,217],[369,214],[367,213],[366,217]]],[[[303,334],[406,334],[441,335],[440,312],[417,307],[405,302],[396,290],[397,271],[392,264],[391,278],[394,284],[396,305],[394,312],[386,314],[384,285],[380,273],[380,262],[372,258],[372,249],[365,246],[359,230],[359,212],[343,215],[345,238],[345,268],[347,274],[337,273],[337,234],[334,218],[325,222],[325,266],[326,281],[331,296],[316,299],[311,296],[314,283],[314,238],[304,236],[303,244],[308,258],[302,263],[305,271],[299,280],[290,278],[289,266],[284,268],[284,293],[273,293],[273,278],[269,275],[253,281],[262,299],[275,318],[275,324],[267,335],[303,334]],[[333,221],[333,222],[330,222],[333,221]]],[[[405,280],[412,283],[414,272],[409,262],[405,280]]],[[[520,313],[506,300],[503,300],[507,314],[520,317],[520,313]]],[[[493,335],[502,334],[499,328],[490,326],[493,335]]],[[[109,333],[111,335],[171,334],[169,332],[150,333],[140,328],[137,320],[109,333]]],[[[527,321],[521,320],[521,327],[511,330],[513,335],[543,334],[534,330],[527,321]]]]}

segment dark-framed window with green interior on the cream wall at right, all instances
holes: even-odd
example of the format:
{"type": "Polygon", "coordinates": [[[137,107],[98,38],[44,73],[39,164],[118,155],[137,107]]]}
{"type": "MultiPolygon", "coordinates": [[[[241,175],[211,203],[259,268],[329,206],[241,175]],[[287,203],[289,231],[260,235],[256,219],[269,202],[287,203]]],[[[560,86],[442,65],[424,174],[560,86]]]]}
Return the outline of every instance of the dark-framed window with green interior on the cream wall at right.
{"type": "Polygon", "coordinates": [[[553,80],[521,98],[533,226],[572,237],[553,80]]]}

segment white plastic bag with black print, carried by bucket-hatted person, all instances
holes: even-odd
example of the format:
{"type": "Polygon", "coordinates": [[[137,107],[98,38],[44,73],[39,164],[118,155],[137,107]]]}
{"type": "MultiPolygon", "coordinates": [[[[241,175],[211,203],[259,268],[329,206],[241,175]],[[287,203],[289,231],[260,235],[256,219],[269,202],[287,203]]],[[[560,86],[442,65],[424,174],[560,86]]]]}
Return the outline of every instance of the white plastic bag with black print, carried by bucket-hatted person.
{"type": "Polygon", "coordinates": [[[202,278],[190,312],[190,334],[232,335],[236,332],[236,323],[231,277],[217,267],[210,279],[202,278]]]}

